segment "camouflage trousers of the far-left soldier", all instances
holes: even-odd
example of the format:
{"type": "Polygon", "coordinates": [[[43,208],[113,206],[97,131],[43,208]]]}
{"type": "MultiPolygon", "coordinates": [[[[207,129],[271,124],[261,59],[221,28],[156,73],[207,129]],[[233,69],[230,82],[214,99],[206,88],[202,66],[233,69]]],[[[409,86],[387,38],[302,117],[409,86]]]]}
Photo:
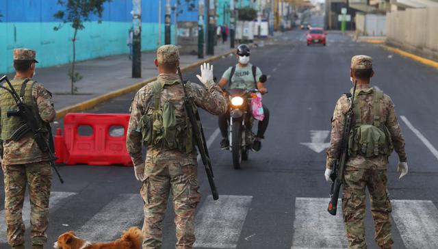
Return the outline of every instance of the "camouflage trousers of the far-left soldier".
{"type": "Polygon", "coordinates": [[[24,244],[25,224],[23,202],[26,186],[29,186],[31,243],[43,245],[47,242],[49,224],[49,197],[52,172],[49,162],[2,165],[5,181],[5,220],[8,244],[24,244]]]}

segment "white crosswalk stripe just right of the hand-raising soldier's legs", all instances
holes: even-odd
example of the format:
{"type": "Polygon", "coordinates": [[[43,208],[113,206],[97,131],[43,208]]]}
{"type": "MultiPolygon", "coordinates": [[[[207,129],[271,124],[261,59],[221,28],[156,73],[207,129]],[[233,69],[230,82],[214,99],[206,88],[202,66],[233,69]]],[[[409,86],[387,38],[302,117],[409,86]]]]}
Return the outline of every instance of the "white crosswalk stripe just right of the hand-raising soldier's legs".
{"type": "Polygon", "coordinates": [[[195,248],[236,248],[253,196],[207,197],[196,215],[195,248]]]}

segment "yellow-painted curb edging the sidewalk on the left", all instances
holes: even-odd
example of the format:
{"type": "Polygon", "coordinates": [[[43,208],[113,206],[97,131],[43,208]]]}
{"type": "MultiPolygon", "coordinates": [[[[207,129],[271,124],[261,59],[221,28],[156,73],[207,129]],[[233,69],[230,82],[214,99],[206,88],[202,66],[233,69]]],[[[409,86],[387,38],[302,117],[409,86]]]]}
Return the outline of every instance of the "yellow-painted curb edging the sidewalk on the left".
{"type": "MultiPolygon", "coordinates": [[[[218,60],[223,56],[227,56],[231,53],[234,52],[235,49],[231,49],[230,51],[228,51],[227,53],[222,53],[220,55],[214,55],[211,57],[208,57],[207,59],[204,60],[200,60],[198,62],[194,62],[188,66],[185,66],[183,68],[181,68],[181,72],[190,70],[192,68],[195,68],[196,66],[200,66],[203,63],[206,62],[211,62],[214,60],[218,60]]],[[[83,101],[81,103],[77,103],[75,105],[69,105],[67,107],[64,107],[62,109],[59,109],[56,111],[56,118],[55,120],[60,120],[61,118],[64,118],[64,116],[66,116],[66,114],[68,114],[69,112],[81,112],[83,110],[86,109],[90,109],[91,107],[94,107],[95,105],[99,105],[100,103],[103,103],[105,101],[109,101],[110,99],[114,99],[118,96],[127,94],[129,92],[133,92],[135,90],[139,90],[140,88],[142,88],[143,86],[145,86],[148,83],[151,83],[152,81],[155,81],[157,79],[157,77],[153,77],[153,78],[149,78],[146,79],[144,81],[140,81],[138,83],[134,83],[131,86],[126,86],[125,88],[120,88],[118,90],[115,90],[113,92],[108,92],[106,94],[100,95],[100,96],[96,96],[93,99],[90,99],[88,101],[83,101]]]]}

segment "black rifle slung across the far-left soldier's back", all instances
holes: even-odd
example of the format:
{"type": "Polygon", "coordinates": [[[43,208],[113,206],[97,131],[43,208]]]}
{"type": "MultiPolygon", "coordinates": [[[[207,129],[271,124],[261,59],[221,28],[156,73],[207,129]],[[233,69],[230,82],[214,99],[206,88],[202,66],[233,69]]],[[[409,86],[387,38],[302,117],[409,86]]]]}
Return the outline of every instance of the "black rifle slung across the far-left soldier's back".
{"type": "Polygon", "coordinates": [[[33,134],[34,140],[36,144],[38,145],[38,148],[42,151],[42,153],[47,153],[49,155],[49,161],[51,166],[53,167],[53,170],[55,170],[57,177],[60,179],[61,183],[64,183],[64,180],[62,179],[60,172],[57,171],[57,168],[55,167],[55,155],[53,154],[53,136],[51,133],[51,127],[50,124],[47,125],[47,129],[49,131],[49,141],[50,144],[47,142],[47,140],[44,138],[42,127],[38,127],[38,122],[36,120],[36,115],[32,112],[31,107],[23,103],[23,100],[21,97],[17,94],[16,90],[12,86],[12,83],[9,81],[8,77],[5,75],[0,78],[0,88],[3,88],[4,90],[8,91],[12,98],[14,98],[14,101],[16,102],[16,106],[18,107],[17,110],[10,110],[7,112],[8,118],[10,116],[17,116],[20,117],[21,120],[23,120],[23,125],[19,127],[11,136],[12,140],[19,140],[24,135],[31,133],[33,134]],[[6,88],[3,86],[3,81],[6,81],[8,83],[9,88],[6,88]]]}

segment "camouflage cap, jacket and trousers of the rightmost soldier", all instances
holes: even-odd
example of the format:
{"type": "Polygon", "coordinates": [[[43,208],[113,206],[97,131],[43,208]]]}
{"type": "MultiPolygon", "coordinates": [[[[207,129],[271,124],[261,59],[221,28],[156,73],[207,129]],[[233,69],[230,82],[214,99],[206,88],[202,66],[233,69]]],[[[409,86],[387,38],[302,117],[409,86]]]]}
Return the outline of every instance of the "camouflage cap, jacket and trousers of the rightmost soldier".
{"type": "MultiPolygon", "coordinates": [[[[365,55],[352,57],[351,68],[372,68],[372,58],[365,55]]],[[[369,84],[359,84],[356,91],[372,93],[373,90],[374,88],[371,88],[369,84]]],[[[362,123],[373,124],[373,94],[360,94],[357,103],[361,106],[362,123]]],[[[406,162],[404,138],[398,124],[394,103],[392,103],[389,96],[384,94],[380,105],[381,124],[385,124],[389,130],[400,162],[406,162]]],[[[345,95],[341,96],[333,113],[331,145],[327,150],[326,168],[332,169],[333,163],[339,156],[346,114],[349,108],[350,100],[345,95]]],[[[365,219],[365,187],[368,187],[370,192],[371,211],[376,229],[376,243],[381,248],[391,248],[393,244],[391,239],[391,202],[387,190],[387,164],[388,157],[385,155],[372,158],[357,155],[350,157],[346,163],[342,211],[346,223],[348,248],[367,248],[363,223],[365,219]]]]}

